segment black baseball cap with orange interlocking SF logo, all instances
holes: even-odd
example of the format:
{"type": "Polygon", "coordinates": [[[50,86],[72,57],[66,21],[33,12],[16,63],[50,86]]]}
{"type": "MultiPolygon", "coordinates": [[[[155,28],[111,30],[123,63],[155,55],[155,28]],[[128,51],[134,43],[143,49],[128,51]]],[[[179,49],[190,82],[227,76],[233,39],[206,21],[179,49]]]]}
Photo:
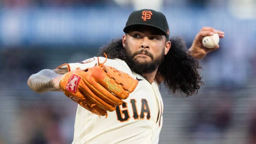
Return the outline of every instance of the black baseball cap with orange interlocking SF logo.
{"type": "Polygon", "coordinates": [[[126,22],[123,32],[128,33],[134,26],[145,25],[152,26],[164,32],[165,36],[169,38],[169,26],[165,16],[152,9],[141,9],[132,12],[126,22]]]}

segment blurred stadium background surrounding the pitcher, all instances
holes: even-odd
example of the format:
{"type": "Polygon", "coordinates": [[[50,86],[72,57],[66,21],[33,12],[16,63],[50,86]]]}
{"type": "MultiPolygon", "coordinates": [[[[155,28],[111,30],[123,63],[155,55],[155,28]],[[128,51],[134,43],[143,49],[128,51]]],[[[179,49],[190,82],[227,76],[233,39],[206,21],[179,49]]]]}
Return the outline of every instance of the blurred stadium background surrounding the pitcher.
{"type": "Polygon", "coordinates": [[[200,60],[197,95],[161,87],[159,144],[255,144],[255,0],[0,0],[0,144],[71,143],[77,104],[61,92],[35,93],[27,79],[95,56],[142,8],[164,13],[170,36],[188,47],[203,26],[225,32],[200,60]]]}

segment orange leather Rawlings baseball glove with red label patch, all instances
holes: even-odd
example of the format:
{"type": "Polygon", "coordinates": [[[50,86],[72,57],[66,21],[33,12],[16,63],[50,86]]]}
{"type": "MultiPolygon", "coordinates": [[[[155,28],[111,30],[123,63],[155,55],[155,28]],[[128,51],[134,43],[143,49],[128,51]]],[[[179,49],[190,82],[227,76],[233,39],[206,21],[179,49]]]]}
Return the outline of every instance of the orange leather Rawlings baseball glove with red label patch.
{"type": "Polygon", "coordinates": [[[138,80],[104,65],[105,62],[99,63],[98,58],[98,66],[67,72],[59,85],[70,99],[94,114],[107,117],[107,111],[114,111],[134,91],[138,80]]]}

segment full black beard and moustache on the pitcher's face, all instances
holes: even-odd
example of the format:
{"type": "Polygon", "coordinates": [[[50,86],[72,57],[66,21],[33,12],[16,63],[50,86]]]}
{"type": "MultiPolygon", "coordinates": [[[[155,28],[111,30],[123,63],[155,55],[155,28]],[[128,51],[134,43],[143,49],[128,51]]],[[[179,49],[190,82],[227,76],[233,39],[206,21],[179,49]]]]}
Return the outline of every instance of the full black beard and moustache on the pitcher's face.
{"type": "Polygon", "coordinates": [[[125,47],[125,53],[126,53],[126,59],[125,62],[126,64],[130,67],[130,69],[137,73],[137,74],[148,74],[151,73],[153,71],[155,71],[158,66],[163,62],[164,60],[164,49],[162,50],[162,53],[160,54],[160,56],[157,57],[153,57],[153,54],[150,54],[147,50],[142,49],[134,54],[131,54],[131,52],[129,51],[128,47],[125,47]],[[148,56],[151,57],[152,61],[151,62],[139,62],[136,59],[134,59],[134,56],[140,53],[145,53],[148,56]]]}

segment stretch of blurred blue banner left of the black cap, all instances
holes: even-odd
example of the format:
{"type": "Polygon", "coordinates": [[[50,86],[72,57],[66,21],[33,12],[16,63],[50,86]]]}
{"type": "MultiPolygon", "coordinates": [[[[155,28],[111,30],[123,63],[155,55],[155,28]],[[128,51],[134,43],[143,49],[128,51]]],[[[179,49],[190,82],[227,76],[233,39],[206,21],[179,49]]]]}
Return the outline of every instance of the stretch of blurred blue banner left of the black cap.
{"type": "Polygon", "coordinates": [[[2,9],[0,41],[13,45],[78,45],[122,34],[129,12],[109,9],[2,9]]]}

